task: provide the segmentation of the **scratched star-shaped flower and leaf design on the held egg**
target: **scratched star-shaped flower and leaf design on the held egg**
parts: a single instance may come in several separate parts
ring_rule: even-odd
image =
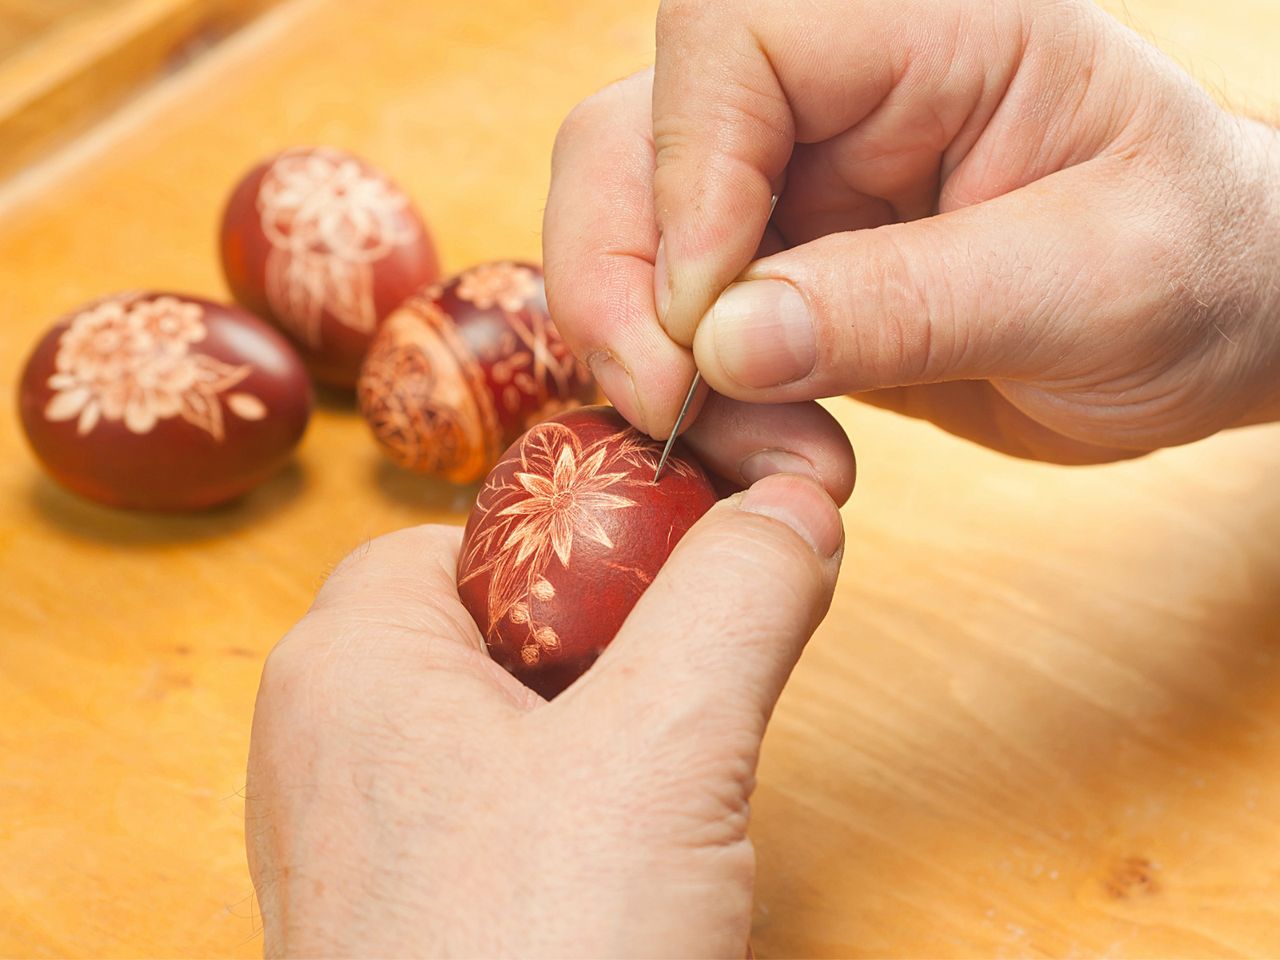
[[[529,664],[559,646],[556,630],[538,622],[532,605],[556,596],[548,571],[554,562],[568,568],[580,543],[613,549],[600,517],[636,506],[626,495],[628,488],[648,483],[657,456],[658,444],[630,429],[586,447],[572,430],[553,421],[525,434],[520,468],[492,476],[480,490],[475,509],[483,532],[460,563],[468,571],[462,584],[489,576],[486,634],[504,618],[524,626],[527,634],[520,655]],[[669,468],[694,472],[678,457],[669,461]],[[637,474],[644,479],[636,479]],[[486,517],[493,522],[485,522]]]

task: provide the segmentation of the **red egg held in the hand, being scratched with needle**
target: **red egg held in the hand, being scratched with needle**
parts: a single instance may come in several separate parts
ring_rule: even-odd
[[[458,556],[458,596],[489,654],[547,698],[595,662],[716,502],[703,468],[612,407],[538,424],[489,474]]]

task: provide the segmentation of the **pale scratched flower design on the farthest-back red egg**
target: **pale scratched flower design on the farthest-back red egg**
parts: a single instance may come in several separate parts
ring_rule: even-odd
[[[257,193],[266,260],[266,300],[276,317],[312,347],[328,311],[369,333],[378,324],[374,264],[417,239],[408,197],[335,150],[283,154]]]

